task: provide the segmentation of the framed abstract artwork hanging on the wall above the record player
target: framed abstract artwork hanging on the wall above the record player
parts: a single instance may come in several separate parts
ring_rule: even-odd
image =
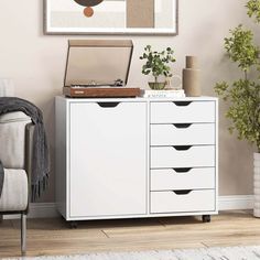
[[[177,0],[44,0],[46,34],[176,34]]]

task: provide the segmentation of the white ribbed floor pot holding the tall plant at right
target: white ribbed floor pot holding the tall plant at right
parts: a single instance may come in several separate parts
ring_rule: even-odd
[[[253,153],[253,216],[260,217],[260,153]]]

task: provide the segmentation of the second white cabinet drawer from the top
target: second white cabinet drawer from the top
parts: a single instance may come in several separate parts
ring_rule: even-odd
[[[215,144],[215,123],[151,124],[151,145]]]

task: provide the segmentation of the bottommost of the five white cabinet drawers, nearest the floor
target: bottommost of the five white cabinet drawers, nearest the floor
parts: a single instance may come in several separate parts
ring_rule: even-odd
[[[186,213],[215,210],[215,191],[152,192],[151,213]],[[181,192],[180,192],[181,193]]]

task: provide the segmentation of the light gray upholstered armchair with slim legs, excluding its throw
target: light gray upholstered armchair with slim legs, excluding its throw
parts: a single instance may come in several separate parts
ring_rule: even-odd
[[[0,218],[2,215],[21,215],[22,253],[26,250],[33,129],[31,118],[23,112],[0,116],[0,160],[4,167]]]

